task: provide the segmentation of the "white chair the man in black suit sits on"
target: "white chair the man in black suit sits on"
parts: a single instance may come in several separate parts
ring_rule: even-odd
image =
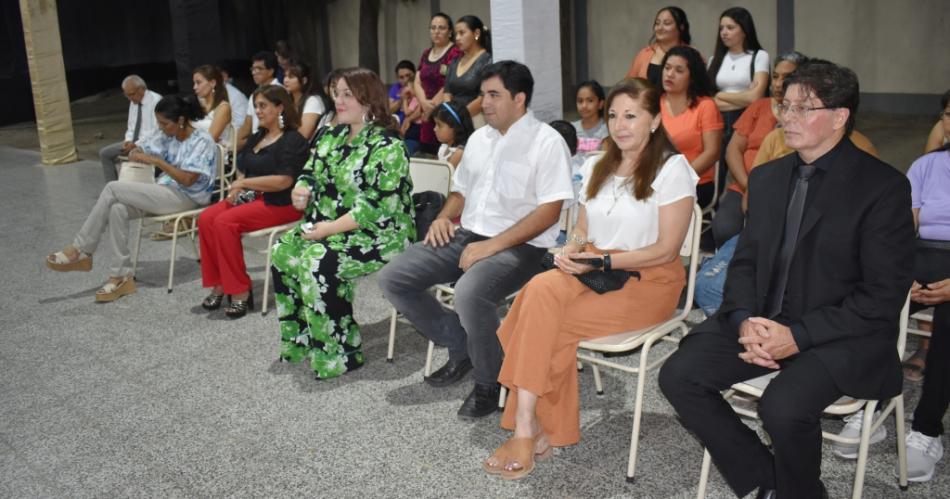
[[[904,354],[904,345],[907,341],[907,318],[909,310],[910,297],[908,296],[907,301],[904,303],[904,308],[901,310],[899,332],[897,335],[897,354],[900,356],[903,356]],[[759,376],[758,378],[743,381],[742,383],[736,383],[732,385],[732,387],[727,390],[725,394],[723,394],[723,397],[729,401],[730,404],[732,400],[740,394],[743,396],[761,398],[762,394],[765,392],[765,389],[769,386],[769,382],[778,376],[778,374],[779,371],[775,371],[764,376]],[[736,411],[737,414],[754,419],[758,419],[759,417],[757,411],[749,409],[745,405],[731,405],[732,410]],[[837,434],[826,431],[821,432],[821,436],[823,438],[833,442],[858,445],[858,464],[857,469],[855,469],[854,486],[851,491],[851,497],[853,499],[860,499],[861,493],[864,490],[864,473],[867,467],[868,448],[870,447],[871,435],[875,430],[878,429],[879,426],[881,426],[881,424],[884,423],[888,416],[891,415],[891,412],[894,413],[895,426],[897,427],[898,486],[901,490],[907,490],[907,446],[904,441],[904,394],[901,393],[896,397],[889,399],[887,404],[881,410],[880,415],[874,417],[874,411],[877,410],[877,405],[877,400],[861,400],[853,399],[851,397],[841,397],[838,399],[838,401],[825,408],[824,411],[825,414],[844,416],[864,410],[864,417],[861,421],[860,437],[848,438],[841,437]],[[702,470],[700,471],[699,476],[699,488],[696,492],[696,497],[698,499],[704,499],[706,497],[706,484],[709,482],[709,465],[711,462],[712,458],[709,455],[709,451],[704,450]]]

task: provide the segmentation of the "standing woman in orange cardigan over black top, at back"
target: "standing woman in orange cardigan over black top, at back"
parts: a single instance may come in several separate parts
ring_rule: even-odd
[[[653,21],[653,37],[637,53],[627,71],[627,78],[645,78],[660,88],[663,79],[663,58],[677,45],[689,45],[689,20],[679,7],[663,7]]]

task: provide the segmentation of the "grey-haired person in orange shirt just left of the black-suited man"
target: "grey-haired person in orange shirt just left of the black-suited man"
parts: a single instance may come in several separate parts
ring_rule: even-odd
[[[726,146],[726,164],[734,182],[719,200],[719,209],[713,218],[712,231],[716,248],[742,230],[745,221],[742,196],[745,195],[749,172],[752,171],[752,164],[762,140],[778,125],[782,83],[786,76],[807,60],[807,57],[798,52],[780,55],[772,70],[772,96],[763,97],[749,105],[733,127],[732,138]]]

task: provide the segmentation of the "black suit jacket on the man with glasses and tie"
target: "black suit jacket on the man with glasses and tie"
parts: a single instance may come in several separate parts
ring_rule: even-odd
[[[914,261],[910,183],[850,140],[839,148],[819,190],[809,193],[780,322],[804,328],[804,349],[814,351],[842,392],[883,399],[900,393],[902,383],[898,320]],[[693,333],[738,335],[730,312],[765,315],[798,164],[791,154],[752,171],[746,226],[722,306]]]

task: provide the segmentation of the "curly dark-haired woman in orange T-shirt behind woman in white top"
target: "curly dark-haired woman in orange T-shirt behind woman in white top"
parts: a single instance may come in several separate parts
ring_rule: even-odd
[[[663,128],[699,175],[697,202],[705,207],[714,192],[713,166],[722,148],[722,115],[712,100],[703,58],[692,47],[673,47],[663,58]]]

